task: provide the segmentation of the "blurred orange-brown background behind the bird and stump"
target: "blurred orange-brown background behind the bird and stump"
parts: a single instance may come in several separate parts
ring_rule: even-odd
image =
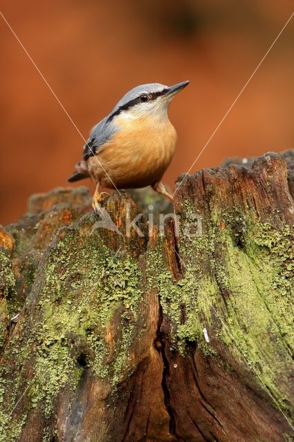
[[[170,106],[179,135],[170,186],[213,134],[293,12],[293,0],[2,1],[2,13],[86,138],[138,84],[190,85]],[[67,186],[84,144],[77,128],[0,17],[1,214],[28,195]],[[294,18],[192,172],[224,157],[294,144]],[[77,185],[88,185],[90,180]]]

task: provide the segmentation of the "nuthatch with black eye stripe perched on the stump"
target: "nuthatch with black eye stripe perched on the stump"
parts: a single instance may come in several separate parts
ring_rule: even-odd
[[[108,189],[152,186],[173,201],[161,182],[175,153],[177,132],[168,118],[173,97],[190,81],[173,86],[141,84],[129,90],[90,131],[82,159],[68,182],[90,177],[96,184],[92,208],[99,212]]]

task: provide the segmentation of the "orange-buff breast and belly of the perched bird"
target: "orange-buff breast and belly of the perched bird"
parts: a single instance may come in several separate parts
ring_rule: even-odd
[[[170,164],[177,141],[168,118],[132,120],[119,116],[116,124],[121,130],[99,150],[97,158],[89,158],[90,175],[106,187],[112,188],[114,182],[121,189],[144,187],[159,180]]]

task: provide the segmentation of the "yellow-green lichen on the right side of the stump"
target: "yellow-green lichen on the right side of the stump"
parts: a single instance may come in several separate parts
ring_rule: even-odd
[[[197,330],[206,318],[209,334],[226,343],[239,363],[253,369],[275,405],[288,411],[284,379],[293,345],[293,230],[282,221],[262,223],[255,213],[240,213],[237,206],[222,213],[210,209],[201,242],[181,237],[186,271],[191,273],[191,265],[197,269],[197,263],[204,269],[197,276],[198,293],[199,280],[208,282],[195,302],[199,314],[186,322],[194,320]],[[197,339],[196,332],[194,336]]]

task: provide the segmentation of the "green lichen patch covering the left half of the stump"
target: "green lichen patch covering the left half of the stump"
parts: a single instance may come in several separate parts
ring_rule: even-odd
[[[47,417],[62,387],[75,391],[85,368],[79,364],[81,354],[86,366],[113,386],[130,369],[128,349],[141,300],[141,270],[136,260],[108,249],[99,232],[90,234],[86,223],[87,217],[75,228],[59,232],[37,272],[30,295],[36,307],[30,314],[32,323],[23,330],[24,345],[15,336],[13,352],[11,345],[6,352],[6,358],[32,366],[30,407],[38,407]],[[106,335],[117,311],[121,315],[112,331],[116,345],[111,353]],[[5,387],[11,403],[3,402],[2,412],[9,416],[17,394],[12,386]],[[3,421],[8,423],[7,418]],[[10,424],[6,430],[5,440],[10,441]]]

